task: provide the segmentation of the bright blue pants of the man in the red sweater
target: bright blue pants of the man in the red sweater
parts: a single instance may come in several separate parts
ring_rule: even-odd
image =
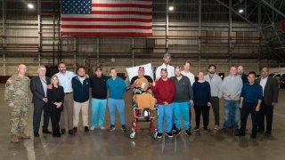
[[[166,119],[166,132],[171,132],[173,116],[173,103],[167,106],[159,105],[158,132],[163,133],[164,119]]]

